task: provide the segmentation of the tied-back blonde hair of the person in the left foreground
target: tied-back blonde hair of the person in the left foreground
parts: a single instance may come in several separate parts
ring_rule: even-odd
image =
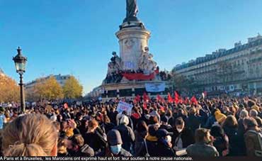
[[[57,146],[57,130],[46,116],[19,116],[2,133],[4,156],[50,156]]]

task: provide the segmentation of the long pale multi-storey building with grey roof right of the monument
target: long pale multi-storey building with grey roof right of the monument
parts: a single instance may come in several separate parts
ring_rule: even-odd
[[[176,65],[173,72],[192,79],[195,91],[210,94],[262,92],[262,36],[248,38],[248,43],[235,43],[234,48],[220,49],[205,57]]]

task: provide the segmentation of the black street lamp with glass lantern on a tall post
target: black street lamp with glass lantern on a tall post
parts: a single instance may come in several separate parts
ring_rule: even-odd
[[[20,96],[21,96],[21,107],[23,112],[25,112],[25,94],[23,91],[23,73],[25,72],[25,64],[28,60],[26,57],[23,57],[21,53],[21,48],[18,47],[17,49],[18,54],[16,57],[13,57],[13,62],[15,62],[16,65],[16,72],[20,75]]]

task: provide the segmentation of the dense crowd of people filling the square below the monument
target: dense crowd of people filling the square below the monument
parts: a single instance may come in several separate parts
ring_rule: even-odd
[[[0,108],[4,156],[262,156],[262,98]]]

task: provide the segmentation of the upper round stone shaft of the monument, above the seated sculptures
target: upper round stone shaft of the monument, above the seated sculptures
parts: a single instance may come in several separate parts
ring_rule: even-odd
[[[140,21],[126,22],[115,35],[119,39],[123,70],[138,70],[139,57],[148,46],[149,30]]]

